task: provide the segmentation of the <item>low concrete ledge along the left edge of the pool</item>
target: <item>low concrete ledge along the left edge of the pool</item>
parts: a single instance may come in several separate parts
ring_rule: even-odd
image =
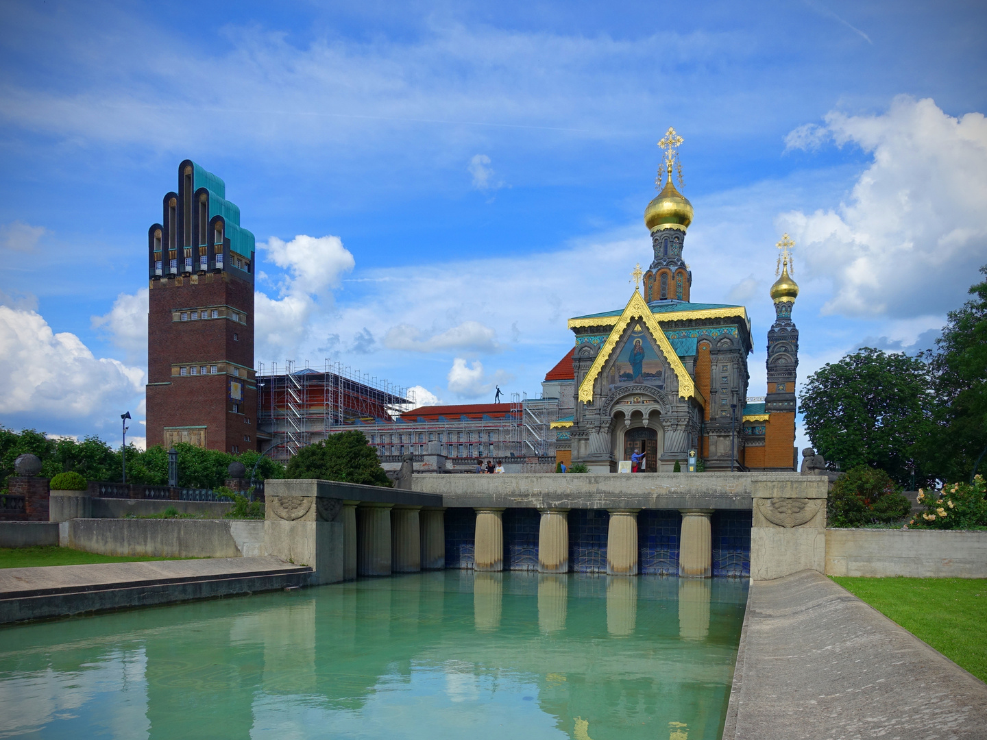
[[[0,624],[309,585],[277,557],[113,562],[0,570]]]

